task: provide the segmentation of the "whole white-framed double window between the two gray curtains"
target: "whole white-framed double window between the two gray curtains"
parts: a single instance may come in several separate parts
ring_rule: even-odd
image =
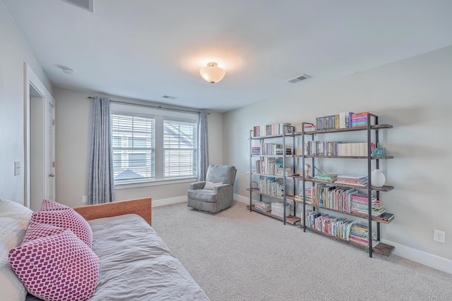
[[[114,104],[111,116],[116,184],[196,178],[197,115]]]

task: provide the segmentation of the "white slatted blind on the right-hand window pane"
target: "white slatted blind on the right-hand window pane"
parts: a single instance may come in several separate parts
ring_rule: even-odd
[[[196,123],[164,120],[163,128],[163,177],[196,177]]]

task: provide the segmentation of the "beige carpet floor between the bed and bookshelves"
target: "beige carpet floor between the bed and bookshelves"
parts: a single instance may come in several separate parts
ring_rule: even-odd
[[[452,275],[284,225],[236,202],[153,208],[153,228],[210,300],[452,300]]]

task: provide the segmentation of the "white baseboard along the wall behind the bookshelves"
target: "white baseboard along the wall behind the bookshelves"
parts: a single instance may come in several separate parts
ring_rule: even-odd
[[[242,195],[234,195],[234,199],[238,202],[249,204],[249,197],[242,197]],[[444,271],[448,274],[452,274],[452,260],[442,258],[434,254],[422,252],[411,247],[406,247],[405,245],[399,245],[396,242],[391,242],[388,240],[381,240],[381,242],[396,247],[396,249],[393,252],[394,255],[403,257],[408,260],[412,260],[413,262],[424,264],[424,266],[429,266],[439,271]]]

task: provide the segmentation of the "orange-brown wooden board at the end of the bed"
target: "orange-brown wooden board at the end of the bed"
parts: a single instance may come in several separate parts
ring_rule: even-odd
[[[73,209],[87,221],[122,214],[138,214],[150,225],[152,216],[152,199],[150,197],[144,199],[130,199],[128,201],[74,207]]]

